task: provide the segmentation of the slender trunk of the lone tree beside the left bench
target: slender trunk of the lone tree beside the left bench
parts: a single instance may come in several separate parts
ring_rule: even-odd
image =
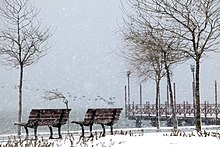
[[[23,87],[23,68],[24,66],[20,65],[20,77],[19,77],[19,102],[18,102],[18,122],[22,121],[22,87]],[[18,135],[21,135],[21,126],[18,125]]]

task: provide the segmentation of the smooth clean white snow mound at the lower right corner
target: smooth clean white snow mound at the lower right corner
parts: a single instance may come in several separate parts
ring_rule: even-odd
[[[163,136],[161,134],[147,134],[144,136],[106,136],[94,142],[98,147],[219,147],[220,140],[215,137],[181,137]]]

